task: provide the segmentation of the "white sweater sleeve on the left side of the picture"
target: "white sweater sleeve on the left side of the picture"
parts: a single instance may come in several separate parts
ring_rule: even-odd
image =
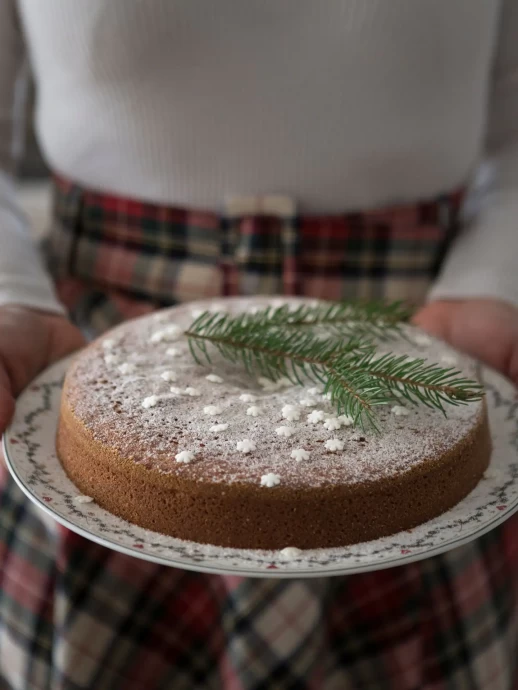
[[[16,203],[13,165],[15,88],[24,61],[15,0],[0,1],[0,305],[63,312]]]

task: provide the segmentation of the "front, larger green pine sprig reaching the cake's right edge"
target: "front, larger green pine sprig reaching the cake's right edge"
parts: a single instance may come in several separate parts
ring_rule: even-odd
[[[200,364],[210,362],[212,346],[251,375],[323,384],[337,412],[362,427],[369,422],[376,428],[374,408],[379,405],[406,400],[445,413],[445,404],[465,404],[483,395],[479,384],[452,369],[406,355],[377,358],[366,336],[322,339],[311,329],[285,328],[267,316],[205,312],[186,332],[193,357]]]

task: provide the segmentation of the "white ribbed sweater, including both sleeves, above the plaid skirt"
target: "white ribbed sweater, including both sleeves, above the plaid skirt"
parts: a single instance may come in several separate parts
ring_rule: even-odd
[[[433,296],[518,303],[516,0],[0,0],[0,163],[28,49],[53,167],[123,195],[302,212],[429,198],[490,157]],[[0,303],[56,309],[7,174]]]

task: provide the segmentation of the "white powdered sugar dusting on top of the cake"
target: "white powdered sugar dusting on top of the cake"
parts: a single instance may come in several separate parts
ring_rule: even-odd
[[[224,306],[244,311],[268,303],[271,300],[235,299]],[[195,306],[205,310],[211,305]],[[134,462],[160,472],[198,481],[251,484],[272,473],[282,477],[283,487],[363,483],[411,470],[451,448],[483,414],[482,403],[448,407],[447,418],[439,411],[408,405],[408,415],[398,416],[387,406],[377,412],[382,433],[362,431],[351,426],[345,415],[337,416],[314,383],[304,388],[287,381],[267,385],[212,351],[210,366],[196,364],[182,336],[192,322],[192,308],[165,310],[159,322],[153,315],[119,326],[109,335],[110,348],[102,340],[92,344],[69,375],[70,402],[94,436],[124,457],[132,456]],[[157,331],[164,334],[162,339],[150,342]],[[171,370],[172,338],[177,375],[173,387],[165,380],[169,376],[161,376]],[[383,349],[432,362],[455,357],[458,368],[474,377],[468,358],[430,340],[426,348],[401,340],[383,343]],[[105,362],[107,349],[119,362],[131,361],[136,373],[124,373]],[[222,382],[207,379],[211,374]],[[315,407],[301,404],[315,396]],[[143,407],[144,401],[148,402]],[[250,407],[260,414],[247,414]],[[211,412],[204,413],[205,408]],[[292,456],[296,450],[304,450],[308,459],[297,461]],[[182,451],[195,453],[196,462],[176,461]]]

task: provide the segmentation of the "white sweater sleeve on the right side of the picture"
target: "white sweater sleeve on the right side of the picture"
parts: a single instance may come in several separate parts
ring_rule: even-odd
[[[485,159],[466,224],[429,299],[495,297],[518,305],[518,2],[504,0],[487,115]]]

